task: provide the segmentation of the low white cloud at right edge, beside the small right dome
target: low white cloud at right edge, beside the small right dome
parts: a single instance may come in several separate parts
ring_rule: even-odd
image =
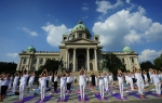
[[[154,59],[160,56],[160,54],[162,54],[162,50],[160,51],[150,50],[150,49],[144,50],[139,54],[139,62],[153,61]]]

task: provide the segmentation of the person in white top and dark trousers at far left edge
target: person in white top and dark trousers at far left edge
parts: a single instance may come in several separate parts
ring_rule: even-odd
[[[1,94],[0,94],[0,102],[3,102],[3,99],[5,96],[6,90],[9,88],[9,85],[11,82],[11,77],[9,74],[4,74],[1,78]]]

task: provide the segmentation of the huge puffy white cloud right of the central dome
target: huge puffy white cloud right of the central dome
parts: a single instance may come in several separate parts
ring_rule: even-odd
[[[96,22],[92,31],[99,34],[105,50],[162,40],[162,24],[148,18],[143,7],[137,7],[134,12],[123,9],[103,22]]]

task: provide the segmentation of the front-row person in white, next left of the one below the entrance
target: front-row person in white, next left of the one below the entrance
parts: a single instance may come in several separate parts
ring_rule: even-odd
[[[66,81],[67,81],[66,73],[62,72],[60,74],[60,102],[65,102]]]

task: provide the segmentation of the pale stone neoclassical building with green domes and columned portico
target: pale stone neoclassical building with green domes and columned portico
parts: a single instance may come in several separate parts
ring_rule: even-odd
[[[64,34],[62,42],[58,46],[59,52],[36,51],[31,46],[19,53],[17,70],[28,66],[29,70],[38,70],[44,65],[48,59],[59,60],[63,57],[65,68],[78,72],[83,66],[87,72],[98,70],[102,67],[103,59],[106,54],[116,54],[124,64],[126,69],[133,70],[133,67],[139,67],[138,54],[130,47],[124,47],[121,52],[102,51],[99,35],[91,35],[89,29],[79,22],[71,33]]]

